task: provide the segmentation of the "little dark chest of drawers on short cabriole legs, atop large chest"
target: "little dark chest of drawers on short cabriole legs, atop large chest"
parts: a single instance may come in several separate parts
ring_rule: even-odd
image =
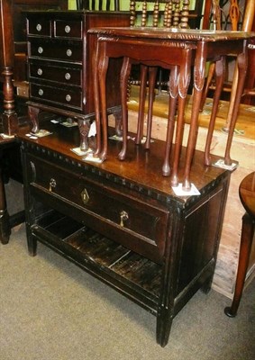
[[[32,132],[39,131],[40,110],[79,122],[81,148],[87,146],[87,126],[95,117],[92,73],[94,38],[90,28],[129,26],[125,12],[49,11],[27,14],[29,114]],[[113,59],[107,74],[107,109],[117,121],[120,94],[112,80],[122,65]]]

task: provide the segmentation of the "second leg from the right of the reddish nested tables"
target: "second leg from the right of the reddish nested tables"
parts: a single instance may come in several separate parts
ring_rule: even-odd
[[[215,77],[216,77],[216,83],[215,83],[215,91],[214,91],[214,101],[213,101],[213,109],[211,113],[211,119],[209,122],[207,137],[206,137],[206,143],[205,143],[205,165],[210,166],[211,165],[211,159],[210,159],[210,149],[214,134],[214,125],[215,125],[215,119],[216,114],[218,112],[218,105],[220,102],[220,96],[223,89],[223,80],[224,80],[224,74],[225,74],[225,58],[221,57],[218,61],[214,64],[215,69]]]

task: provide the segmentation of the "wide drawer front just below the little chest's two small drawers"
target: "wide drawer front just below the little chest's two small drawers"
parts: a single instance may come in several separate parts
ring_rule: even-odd
[[[30,40],[29,56],[82,63],[81,41]]]

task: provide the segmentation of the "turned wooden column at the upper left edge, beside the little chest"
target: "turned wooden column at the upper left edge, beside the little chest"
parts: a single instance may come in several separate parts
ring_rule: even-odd
[[[1,76],[4,80],[4,112],[3,132],[14,135],[18,128],[18,117],[14,106],[14,26],[13,26],[13,1],[0,0],[0,64]]]

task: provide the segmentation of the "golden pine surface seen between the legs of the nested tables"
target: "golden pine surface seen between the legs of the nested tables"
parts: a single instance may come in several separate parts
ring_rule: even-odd
[[[138,111],[139,103],[139,86],[132,86],[130,101],[128,103],[129,110]],[[212,99],[207,99],[205,102],[204,111],[199,115],[199,126],[208,127],[210,114],[212,109]],[[228,102],[221,101],[216,118],[215,130],[223,130],[227,119]],[[146,108],[147,109],[147,108]],[[192,109],[192,96],[187,98],[187,109],[185,112],[185,121],[188,123]],[[162,92],[156,94],[153,106],[153,115],[167,118],[168,117],[168,93]],[[255,139],[255,106],[241,104],[238,120],[236,123],[235,135],[248,139]]]

